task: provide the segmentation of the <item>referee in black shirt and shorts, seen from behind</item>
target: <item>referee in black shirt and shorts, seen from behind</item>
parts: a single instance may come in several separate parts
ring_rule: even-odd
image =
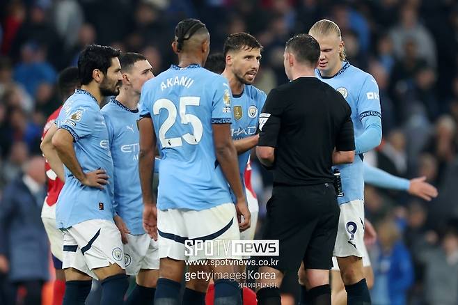
[[[352,110],[315,77],[319,54],[317,40],[307,34],[286,42],[283,63],[291,82],[269,93],[260,114],[256,153],[274,172],[263,239],[280,243],[278,263],[259,269],[260,305],[281,304],[283,275],[297,272],[301,262],[308,304],[331,304],[329,269],[340,213],[331,166],[352,163],[355,146]]]

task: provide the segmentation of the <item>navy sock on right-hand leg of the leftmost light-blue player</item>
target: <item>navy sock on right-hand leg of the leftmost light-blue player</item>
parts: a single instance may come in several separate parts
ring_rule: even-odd
[[[129,288],[129,282],[127,281],[127,275],[116,274],[107,277],[102,283],[102,299],[100,299],[100,305],[123,305],[124,296],[127,288]]]

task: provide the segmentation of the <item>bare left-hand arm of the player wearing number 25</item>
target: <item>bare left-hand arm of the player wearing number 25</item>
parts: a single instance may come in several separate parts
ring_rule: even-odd
[[[140,152],[139,175],[141,195],[143,197],[143,228],[154,240],[157,240],[156,198],[152,192],[152,172],[155,167],[156,134],[152,119],[139,120]]]

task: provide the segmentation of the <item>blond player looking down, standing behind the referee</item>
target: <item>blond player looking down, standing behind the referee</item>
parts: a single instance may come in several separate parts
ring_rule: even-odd
[[[370,304],[361,259],[364,256],[363,153],[376,148],[381,141],[379,88],[372,75],[345,60],[344,43],[337,24],[322,19],[308,33],[319,42],[321,49],[317,77],[340,92],[352,108],[357,155],[352,164],[336,166],[340,170],[344,194],[338,197],[340,217],[334,256],[347,290],[348,304]],[[299,280],[302,280],[301,299],[305,303],[305,281]]]

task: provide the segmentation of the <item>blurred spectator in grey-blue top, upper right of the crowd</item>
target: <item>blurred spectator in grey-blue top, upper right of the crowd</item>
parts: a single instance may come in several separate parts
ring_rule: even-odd
[[[418,56],[429,65],[436,67],[436,45],[431,33],[418,21],[416,8],[409,3],[404,4],[400,10],[399,22],[390,31],[393,47],[397,58],[403,60],[408,56],[404,52],[404,42],[413,40],[418,46]]]

